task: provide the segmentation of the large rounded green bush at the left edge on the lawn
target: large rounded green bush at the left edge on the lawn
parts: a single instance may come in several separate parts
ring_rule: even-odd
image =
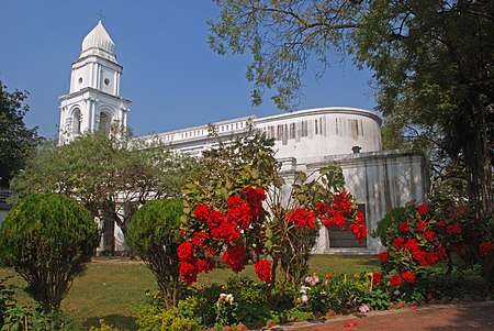
[[[35,194],[2,222],[0,262],[27,283],[25,291],[45,312],[59,310],[99,241],[100,231],[82,205],[56,194]]]

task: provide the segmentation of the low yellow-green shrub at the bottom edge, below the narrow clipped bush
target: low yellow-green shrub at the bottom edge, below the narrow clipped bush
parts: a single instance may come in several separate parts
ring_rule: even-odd
[[[200,330],[199,323],[180,315],[177,308],[161,310],[149,307],[141,311],[136,321],[139,331],[194,331]]]

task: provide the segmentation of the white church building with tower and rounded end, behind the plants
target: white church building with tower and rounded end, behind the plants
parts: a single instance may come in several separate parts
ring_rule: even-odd
[[[69,95],[60,97],[61,143],[82,132],[115,124],[126,126],[130,101],[120,97],[122,66],[116,63],[114,43],[101,22],[86,36],[78,60],[72,64]],[[420,155],[382,151],[381,119],[363,109],[328,107],[300,110],[266,118],[239,118],[188,129],[142,136],[169,144],[192,155],[214,147],[211,125],[222,140],[245,134],[250,126],[274,139],[276,157],[290,184],[295,172],[307,174],[337,162],[366,216],[369,233],[393,208],[427,194],[427,174]],[[61,130],[63,129],[63,130]],[[121,230],[113,232],[114,250],[126,250]],[[382,250],[370,234],[359,243],[348,231],[322,229],[314,253],[372,254]]]

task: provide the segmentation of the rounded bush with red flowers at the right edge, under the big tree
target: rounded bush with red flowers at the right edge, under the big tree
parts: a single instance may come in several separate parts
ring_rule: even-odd
[[[389,212],[373,235],[386,247],[379,258],[394,288],[412,284],[427,293],[440,285],[433,284],[433,278],[446,282],[433,274],[448,277],[476,264],[485,266],[487,282],[492,277],[492,229],[464,203],[440,196],[428,203],[408,203]]]

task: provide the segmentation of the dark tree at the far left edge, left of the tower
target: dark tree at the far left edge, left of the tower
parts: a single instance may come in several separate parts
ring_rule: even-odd
[[[40,144],[37,126],[27,129],[24,103],[27,92],[10,93],[0,80],[0,187],[9,187],[10,179],[25,166],[26,158]]]

